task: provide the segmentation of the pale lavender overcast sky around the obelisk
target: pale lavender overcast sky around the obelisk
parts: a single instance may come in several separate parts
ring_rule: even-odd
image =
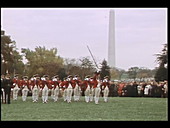
[[[116,67],[158,67],[167,43],[167,8],[1,8],[1,29],[16,47],[57,48],[63,58],[108,60],[109,11],[115,10]],[[92,59],[91,59],[92,60]]]

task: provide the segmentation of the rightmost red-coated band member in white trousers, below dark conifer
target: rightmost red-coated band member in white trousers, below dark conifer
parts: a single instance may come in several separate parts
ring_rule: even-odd
[[[110,87],[109,77],[105,76],[103,83],[102,83],[102,91],[103,91],[104,102],[108,101],[109,87]]]

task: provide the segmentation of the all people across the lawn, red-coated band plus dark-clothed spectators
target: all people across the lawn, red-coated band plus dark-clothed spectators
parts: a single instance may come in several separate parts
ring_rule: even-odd
[[[84,96],[85,102],[99,103],[99,97],[103,97],[104,102],[108,102],[108,97],[168,97],[168,82],[114,82],[108,76],[100,80],[100,72],[86,76],[83,80],[78,75],[69,75],[60,80],[58,75],[51,79],[48,75],[42,77],[38,74],[30,79],[18,75],[13,78],[9,74],[1,75],[1,99],[2,103],[10,104],[10,98],[18,100],[22,96],[22,101],[26,101],[31,94],[32,101],[47,103],[50,99],[57,102],[60,97],[67,103],[80,101]],[[40,99],[41,98],[41,99]]]

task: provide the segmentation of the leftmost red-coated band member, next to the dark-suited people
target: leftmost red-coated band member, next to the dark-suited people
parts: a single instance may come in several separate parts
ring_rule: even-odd
[[[18,92],[20,90],[20,80],[18,79],[18,75],[15,75],[13,78],[13,100],[17,100]]]

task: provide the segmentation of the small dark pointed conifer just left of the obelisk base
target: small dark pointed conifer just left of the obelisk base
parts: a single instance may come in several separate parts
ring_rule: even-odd
[[[107,61],[105,59],[102,61],[101,66],[101,79],[103,80],[105,76],[110,77],[110,67],[107,65]]]

